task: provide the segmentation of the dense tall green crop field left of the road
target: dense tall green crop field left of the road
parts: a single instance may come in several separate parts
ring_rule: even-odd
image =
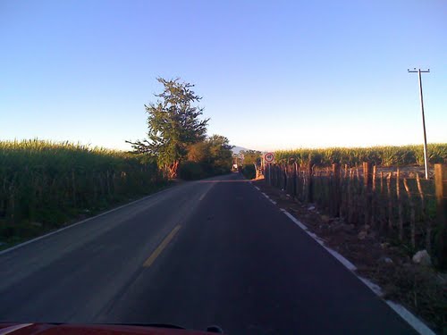
[[[167,184],[147,155],[38,139],[0,141],[0,182],[5,246]]]

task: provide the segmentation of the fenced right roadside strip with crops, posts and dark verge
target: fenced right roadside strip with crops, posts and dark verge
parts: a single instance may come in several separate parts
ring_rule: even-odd
[[[257,186],[385,299],[445,334],[447,144],[428,145],[428,156],[426,180],[422,146],[277,151]]]

